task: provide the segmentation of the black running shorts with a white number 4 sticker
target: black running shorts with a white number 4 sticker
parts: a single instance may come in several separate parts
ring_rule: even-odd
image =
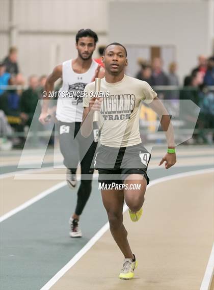
[[[147,184],[147,167],[151,154],[142,143],[128,147],[109,147],[101,145],[94,160],[94,167],[99,172],[98,181],[101,183],[123,183],[130,174],[143,175]]]

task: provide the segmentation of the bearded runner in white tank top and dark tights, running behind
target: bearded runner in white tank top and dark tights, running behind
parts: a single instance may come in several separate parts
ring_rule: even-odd
[[[98,37],[92,30],[79,30],[76,34],[77,58],[55,67],[45,84],[45,91],[49,96],[53,91],[54,83],[59,78],[63,81],[57,101],[56,118],[59,127],[60,150],[67,168],[66,180],[71,189],[76,186],[76,169],[78,164],[81,164],[82,178],[77,191],[77,204],[74,214],[69,219],[69,234],[72,238],[82,236],[79,229],[79,217],[92,190],[93,157],[97,142],[94,142],[93,131],[88,138],[84,138],[79,129],[83,118],[81,93],[84,92],[88,83],[95,80],[95,77],[104,75],[103,68],[92,60],[97,41]],[[47,116],[48,100],[44,99],[39,121],[45,124],[48,121]]]

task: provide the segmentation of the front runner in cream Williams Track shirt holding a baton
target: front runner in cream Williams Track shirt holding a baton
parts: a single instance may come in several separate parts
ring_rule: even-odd
[[[95,168],[102,183],[102,201],[108,213],[111,233],[125,257],[120,279],[132,279],[137,267],[123,225],[123,203],[125,200],[129,207],[131,220],[138,221],[149,183],[147,166],[150,153],[144,148],[139,133],[141,101],[149,104],[159,115],[166,131],[168,152],[159,165],[166,161],[165,168],[168,169],[176,163],[173,128],[168,112],[148,83],[124,74],[126,57],[123,45],[112,43],[106,46],[103,55],[105,78],[101,79],[100,90],[109,91],[110,96],[103,99],[84,98],[84,121],[81,126],[82,135],[88,136],[93,128],[94,112],[100,111],[101,146],[96,154]],[[85,87],[88,95],[91,91],[94,91],[94,83]]]

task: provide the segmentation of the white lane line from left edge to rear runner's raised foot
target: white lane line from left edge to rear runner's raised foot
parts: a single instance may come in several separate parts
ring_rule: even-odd
[[[38,200],[42,199],[43,197],[47,196],[48,194],[50,194],[50,193],[52,193],[52,192],[64,187],[66,184],[67,184],[66,181],[60,182],[60,183],[56,184],[55,186],[49,188],[48,190],[45,190],[45,191],[41,192],[37,196],[29,199],[28,201],[22,203],[21,205],[15,207],[14,209],[10,210],[10,212],[8,212],[7,214],[5,214],[2,217],[0,217],[0,223],[5,221],[5,220],[7,220],[10,217],[12,217],[13,215],[17,214],[22,209],[32,205],[33,203],[35,203]]]

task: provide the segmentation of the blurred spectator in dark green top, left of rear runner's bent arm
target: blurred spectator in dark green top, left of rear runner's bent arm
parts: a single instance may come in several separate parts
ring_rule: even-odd
[[[38,89],[38,78],[36,75],[31,75],[29,77],[29,88],[22,93],[20,99],[20,107],[21,107],[20,116],[23,123],[28,126],[31,125],[39,100],[39,94],[37,89]]]

